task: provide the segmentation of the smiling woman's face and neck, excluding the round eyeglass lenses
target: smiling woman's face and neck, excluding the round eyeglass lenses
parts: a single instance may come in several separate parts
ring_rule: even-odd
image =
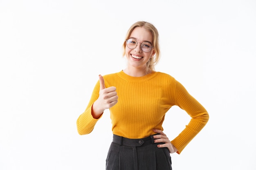
[[[129,49],[126,46],[125,54],[128,60],[129,68],[140,68],[146,69],[146,63],[150,59],[151,56],[155,54],[154,48],[152,48],[149,52],[144,52],[141,49],[141,43],[150,42],[153,46],[153,35],[150,31],[147,31],[143,27],[136,27],[129,38],[137,40],[138,44],[135,49]],[[128,39],[129,39],[128,38]]]

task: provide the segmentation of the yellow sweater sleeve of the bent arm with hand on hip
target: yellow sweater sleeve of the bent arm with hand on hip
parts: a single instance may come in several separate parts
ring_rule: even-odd
[[[177,82],[176,105],[186,111],[191,120],[186,128],[171,143],[180,154],[187,144],[202,130],[209,120],[207,110]]]

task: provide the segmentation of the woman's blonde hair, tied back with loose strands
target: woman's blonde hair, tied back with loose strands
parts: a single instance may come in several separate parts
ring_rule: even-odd
[[[130,26],[130,29],[128,30],[128,32],[126,34],[125,40],[128,40],[130,38],[132,31],[136,27],[143,27],[147,31],[150,31],[153,35],[153,46],[155,49],[155,55],[148,60],[146,71],[147,72],[155,71],[155,65],[159,62],[159,59],[160,59],[158,31],[153,24],[150,24],[149,22],[146,22],[146,21],[138,21],[138,22],[135,22],[134,24],[132,24],[132,26]],[[123,56],[125,55],[125,48],[126,48],[126,41],[124,41],[124,44],[123,44]]]

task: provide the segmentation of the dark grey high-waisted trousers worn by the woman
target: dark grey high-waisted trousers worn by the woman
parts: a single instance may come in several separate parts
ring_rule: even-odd
[[[128,139],[113,135],[106,170],[172,170],[168,148],[157,148],[151,136]]]

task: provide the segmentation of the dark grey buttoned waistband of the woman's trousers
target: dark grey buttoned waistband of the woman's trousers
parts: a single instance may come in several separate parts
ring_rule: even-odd
[[[159,135],[159,133],[155,134]],[[150,135],[149,137],[141,138],[141,139],[129,139],[126,137],[121,137],[117,135],[113,135],[113,142],[116,144],[119,144],[120,146],[142,146],[142,145],[149,145],[149,144],[155,144],[154,142],[154,135]]]

